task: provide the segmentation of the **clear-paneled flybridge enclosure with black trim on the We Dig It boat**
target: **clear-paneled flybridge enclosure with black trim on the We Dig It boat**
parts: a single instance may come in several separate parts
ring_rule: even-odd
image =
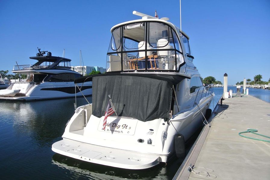
[[[161,22],[126,24],[112,31],[107,72],[179,72],[184,63],[179,37]]]

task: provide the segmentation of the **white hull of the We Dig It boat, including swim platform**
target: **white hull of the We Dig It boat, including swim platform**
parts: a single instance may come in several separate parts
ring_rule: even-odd
[[[210,101],[210,97],[200,101],[199,107],[204,115]],[[187,141],[202,127],[201,111],[197,106],[191,107],[190,110],[173,116],[170,123],[164,122],[164,119],[142,122],[109,116],[107,122],[111,125],[106,126],[103,131],[101,129],[104,116],[97,118],[91,115],[91,106],[85,105],[77,108],[65,129],[63,140],[54,143],[52,150],[96,164],[125,169],[147,169],[160,162],[168,162],[170,156],[174,155],[176,134],[183,134]],[[130,123],[131,121],[133,123]],[[149,127],[154,131],[149,131]],[[126,128],[129,130],[125,130]],[[140,143],[139,139],[144,142]],[[151,140],[151,144],[148,144],[148,140]]]

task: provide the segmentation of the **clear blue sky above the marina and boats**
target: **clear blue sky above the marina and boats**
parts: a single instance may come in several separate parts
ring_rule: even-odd
[[[203,78],[228,84],[257,74],[270,78],[269,0],[182,0],[182,30],[190,37],[194,64]],[[139,16],[161,17],[180,27],[179,1],[0,1],[0,70],[33,64],[36,47],[87,66],[106,66],[112,26]]]

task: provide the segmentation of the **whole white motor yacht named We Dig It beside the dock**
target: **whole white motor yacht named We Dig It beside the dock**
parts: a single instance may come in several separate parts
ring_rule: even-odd
[[[75,110],[54,152],[146,169],[183,158],[185,142],[207,124],[214,94],[193,64],[189,37],[168,18],[133,14],[143,18],[111,28],[106,73],[74,81],[92,81],[92,104]]]

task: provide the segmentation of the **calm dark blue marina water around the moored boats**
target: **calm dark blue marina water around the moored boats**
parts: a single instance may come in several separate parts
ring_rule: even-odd
[[[235,88],[236,91],[236,87]],[[228,88],[229,90],[230,88]],[[232,89],[234,90],[234,89]],[[250,94],[270,91],[250,88]],[[223,88],[214,88],[218,102]],[[263,92],[263,93],[260,93]],[[255,95],[254,95],[255,96]],[[88,97],[91,102],[92,97]],[[123,170],[91,164],[55,154],[54,142],[61,140],[68,119],[74,114],[74,98],[33,102],[0,101],[1,179],[172,179],[182,159],[150,170]],[[78,106],[86,104],[79,98]],[[187,151],[196,136],[190,141]]]

